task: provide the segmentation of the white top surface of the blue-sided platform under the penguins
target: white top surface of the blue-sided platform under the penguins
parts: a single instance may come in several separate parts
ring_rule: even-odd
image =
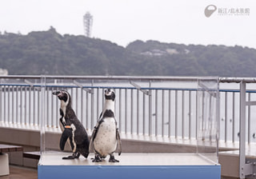
[[[92,162],[94,154],[75,160],[62,160],[70,153],[42,153],[39,165],[215,165],[213,161],[195,153],[122,153],[115,154],[117,163],[109,162],[109,157],[102,162]]]

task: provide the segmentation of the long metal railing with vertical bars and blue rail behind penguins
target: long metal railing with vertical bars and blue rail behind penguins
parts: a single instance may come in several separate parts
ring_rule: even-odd
[[[42,106],[38,101],[41,78],[0,77],[0,121],[40,124]],[[47,80],[46,125],[49,127],[58,128],[59,101],[51,94],[53,90],[68,90],[73,97],[73,107],[78,118],[87,129],[93,129],[102,111],[103,90],[111,87],[117,93],[116,115],[123,133],[189,139],[197,137],[197,78],[49,76]],[[220,82],[235,84],[238,81],[220,78]],[[220,139],[234,142],[239,140],[240,90],[239,86],[232,86],[231,89],[225,87],[221,86],[220,89]],[[246,96],[254,99],[256,91],[247,90]],[[255,111],[253,108],[249,106],[247,109],[246,141],[249,143],[254,142],[256,137],[255,122],[251,120]]]

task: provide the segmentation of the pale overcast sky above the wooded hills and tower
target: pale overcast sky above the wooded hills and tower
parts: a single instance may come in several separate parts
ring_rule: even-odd
[[[209,5],[216,11],[206,18]],[[53,26],[60,34],[84,34],[87,11],[94,17],[92,37],[120,46],[139,39],[256,48],[255,0],[1,0],[0,31]]]

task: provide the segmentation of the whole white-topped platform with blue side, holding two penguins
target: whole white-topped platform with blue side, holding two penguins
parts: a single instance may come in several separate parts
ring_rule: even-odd
[[[220,179],[221,166],[194,153],[122,153],[120,162],[108,158],[94,163],[90,158],[62,160],[70,153],[44,153],[38,163],[38,179]]]

